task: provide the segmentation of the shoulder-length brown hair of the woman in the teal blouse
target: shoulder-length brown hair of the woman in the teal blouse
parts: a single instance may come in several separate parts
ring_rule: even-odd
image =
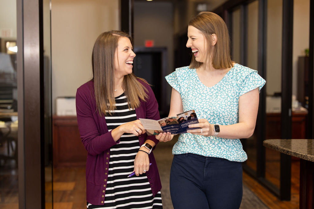
[[[233,66],[230,58],[230,39],[228,29],[224,20],[219,17],[219,15],[212,12],[201,12],[190,20],[189,25],[200,30],[207,40],[208,57],[205,62],[209,58],[209,50],[211,47],[210,37],[212,34],[216,34],[217,43],[215,44],[213,50],[213,67],[215,69],[222,69]],[[192,56],[190,68],[198,68],[202,64],[203,63],[196,61],[195,57]]]

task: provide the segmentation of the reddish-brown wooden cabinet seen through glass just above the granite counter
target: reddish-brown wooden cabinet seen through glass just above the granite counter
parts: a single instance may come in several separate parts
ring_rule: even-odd
[[[292,138],[306,138],[307,112],[292,112]],[[266,139],[280,138],[280,113],[266,114]]]

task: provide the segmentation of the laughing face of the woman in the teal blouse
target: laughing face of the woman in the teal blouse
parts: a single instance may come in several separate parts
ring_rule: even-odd
[[[195,60],[205,62],[207,55],[207,40],[200,30],[189,25],[187,29],[187,47],[192,49]]]

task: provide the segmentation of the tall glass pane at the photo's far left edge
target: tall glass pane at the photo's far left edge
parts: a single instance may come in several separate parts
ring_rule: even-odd
[[[19,208],[16,1],[0,1],[0,208]]]

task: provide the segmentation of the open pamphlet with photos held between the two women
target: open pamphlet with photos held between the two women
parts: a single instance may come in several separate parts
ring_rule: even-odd
[[[190,124],[198,123],[195,110],[189,110],[177,114],[176,117],[162,118],[158,121],[139,118],[148,135],[170,132],[171,134],[187,133]]]

